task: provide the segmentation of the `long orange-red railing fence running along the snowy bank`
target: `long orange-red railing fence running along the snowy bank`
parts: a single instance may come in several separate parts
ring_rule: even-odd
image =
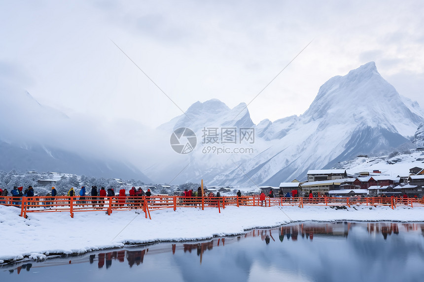
[[[0,196],[0,204],[5,206],[15,206],[21,208],[21,216],[26,217],[27,213],[32,212],[69,212],[73,218],[76,212],[105,211],[110,215],[113,211],[142,209],[145,217],[150,217],[150,210],[177,207],[201,208],[214,207],[225,209],[226,206],[348,206],[367,205],[367,206],[389,206],[394,209],[397,205],[409,207],[424,206],[424,197],[402,198],[402,197],[266,197],[261,201],[259,196],[223,196],[223,197],[183,197],[183,196],[165,196],[153,195],[150,197],[91,197],[84,198],[73,196],[35,196],[35,197],[7,197]]]

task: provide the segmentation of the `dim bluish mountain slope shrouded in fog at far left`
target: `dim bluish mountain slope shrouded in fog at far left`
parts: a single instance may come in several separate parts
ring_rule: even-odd
[[[108,132],[112,136],[106,135],[99,121],[71,119],[41,105],[10,78],[0,79],[0,101],[0,170],[150,181],[113,149],[114,132]]]

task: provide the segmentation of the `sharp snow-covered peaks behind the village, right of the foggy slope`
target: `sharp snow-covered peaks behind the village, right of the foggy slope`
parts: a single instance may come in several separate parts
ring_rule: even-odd
[[[210,185],[278,186],[283,181],[305,178],[309,169],[331,168],[357,155],[389,152],[410,143],[423,122],[418,103],[399,95],[370,62],[345,76],[329,79],[301,116],[254,125],[246,104],[230,109],[213,99],[196,102],[185,115],[159,129],[172,132],[188,127],[200,139],[205,128],[252,127],[255,142],[249,145],[253,154],[202,154],[208,146],[204,144],[185,160],[178,160],[187,165],[179,177],[196,182],[203,178]],[[156,174],[146,172],[153,178],[160,172],[177,175],[173,167],[178,171],[182,168],[174,162],[155,166]]]

